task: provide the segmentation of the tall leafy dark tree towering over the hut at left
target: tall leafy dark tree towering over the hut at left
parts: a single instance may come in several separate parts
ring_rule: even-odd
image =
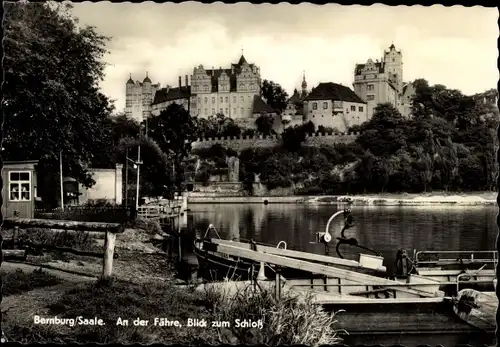
[[[5,3],[4,159],[39,160],[39,177],[47,180],[39,194],[47,200],[59,187],[60,151],[65,175],[94,184],[86,167],[106,148],[113,110],[98,87],[108,39],[77,27],[70,9],[67,3]]]

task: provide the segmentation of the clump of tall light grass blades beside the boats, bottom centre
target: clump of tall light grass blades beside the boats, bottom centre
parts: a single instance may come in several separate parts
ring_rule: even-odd
[[[218,328],[221,343],[319,346],[341,342],[334,328],[336,314],[325,312],[311,296],[300,299],[286,293],[277,300],[273,288],[253,290],[249,285],[235,296],[206,289],[204,297],[218,320],[263,320],[262,330]]]

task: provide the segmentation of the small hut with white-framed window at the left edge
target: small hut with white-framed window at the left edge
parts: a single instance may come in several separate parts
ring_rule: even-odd
[[[5,161],[2,168],[2,215],[33,218],[37,197],[38,160]]]

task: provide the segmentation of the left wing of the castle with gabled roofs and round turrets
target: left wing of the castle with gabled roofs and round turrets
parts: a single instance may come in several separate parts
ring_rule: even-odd
[[[172,103],[183,105],[192,116],[208,118],[218,113],[238,123],[253,122],[262,113],[274,113],[261,98],[260,68],[241,55],[229,68],[205,69],[199,65],[182,86],[160,88],[146,76],[143,83],[127,82],[126,115],[138,121],[158,115]]]

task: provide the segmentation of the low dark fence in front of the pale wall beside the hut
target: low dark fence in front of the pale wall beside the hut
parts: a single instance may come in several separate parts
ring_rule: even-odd
[[[79,222],[126,223],[135,218],[132,207],[121,206],[68,206],[35,209],[36,219],[72,220]]]

